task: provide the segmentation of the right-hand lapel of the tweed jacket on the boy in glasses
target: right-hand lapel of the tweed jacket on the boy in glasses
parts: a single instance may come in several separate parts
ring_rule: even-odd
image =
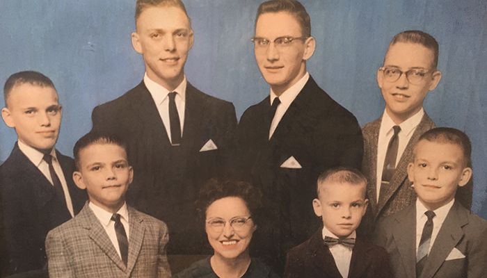
[[[428,131],[433,127],[433,122],[431,119],[424,113],[420,124],[418,124],[417,128],[415,129],[413,136],[411,136],[408,145],[406,145],[406,149],[397,163],[396,170],[392,175],[392,179],[390,180],[389,186],[385,188],[384,198],[381,198],[381,201],[377,204],[377,214],[381,213],[382,209],[384,208],[385,204],[389,202],[389,199],[394,195],[394,193],[401,187],[404,181],[408,177],[408,164],[413,160],[413,148],[417,142],[417,140],[422,136],[423,133]],[[376,156],[377,157],[377,156]]]

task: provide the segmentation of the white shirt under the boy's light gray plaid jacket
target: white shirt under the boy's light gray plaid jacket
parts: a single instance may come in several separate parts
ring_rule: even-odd
[[[95,216],[98,218],[99,222],[102,224],[103,229],[105,229],[106,234],[109,236],[111,243],[113,244],[113,247],[115,247],[115,250],[118,253],[118,256],[120,256],[120,259],[122,256],[120,255],[120,247],[118,247],[118,240],[117,240],[117,233],[115,232],[115,221],[111,220],[111,216],[113,213],[109,211],[105,211],[103,208],[100,208],[99,206],[93,204],[93,202],[90,202],[88,204],[90,206],[91,211],[95,213]],[[123,227],[125,228],[125,234],[127,235],[127,241],[129,240],[129,211],[127,211],[127,204],[124,203],[123,206],[117,211],[118,214],[120,214],[120,222],[122,222]]]

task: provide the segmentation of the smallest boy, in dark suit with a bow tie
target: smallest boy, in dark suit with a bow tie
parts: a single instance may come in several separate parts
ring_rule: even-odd
[[[391,277],[383,248],[356,240],[367,209],[367,180],[353,168],[330,169],[318,178],[314,213],[323,229],[287,254],[285,277]]]

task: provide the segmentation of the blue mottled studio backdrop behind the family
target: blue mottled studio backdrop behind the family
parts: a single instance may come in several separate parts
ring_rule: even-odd
[[[255,65],[253,22],[257,0],[186,0],[195,44],[189,81],[232,101],[241,115],[268,93]],[[375,74],[392,36],[406,29],[440,43],[443,78],[424,106],[438,126],[466,131],[473,144],[473,211],[487,218],[487,1],[303,0],[317,51],[308,70],[361,125],[383,111]],[[21,70],[38,70],[56,85],[63,104],[57,147],[72,155],[91,127],[93,107],[122,95],[144,72],[131,47],[135,0],[0,1],[0,83]],[[1,101],[3,104],[3,100]],[[0,161],[15,132],[0,124]]]

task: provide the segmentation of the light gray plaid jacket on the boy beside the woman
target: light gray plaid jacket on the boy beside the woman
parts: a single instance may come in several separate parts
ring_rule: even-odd
[[[127,209],[127,267],[86,202],[76,217],[47,234],[49,277],[170,277],[166,224],[130,206]]]

